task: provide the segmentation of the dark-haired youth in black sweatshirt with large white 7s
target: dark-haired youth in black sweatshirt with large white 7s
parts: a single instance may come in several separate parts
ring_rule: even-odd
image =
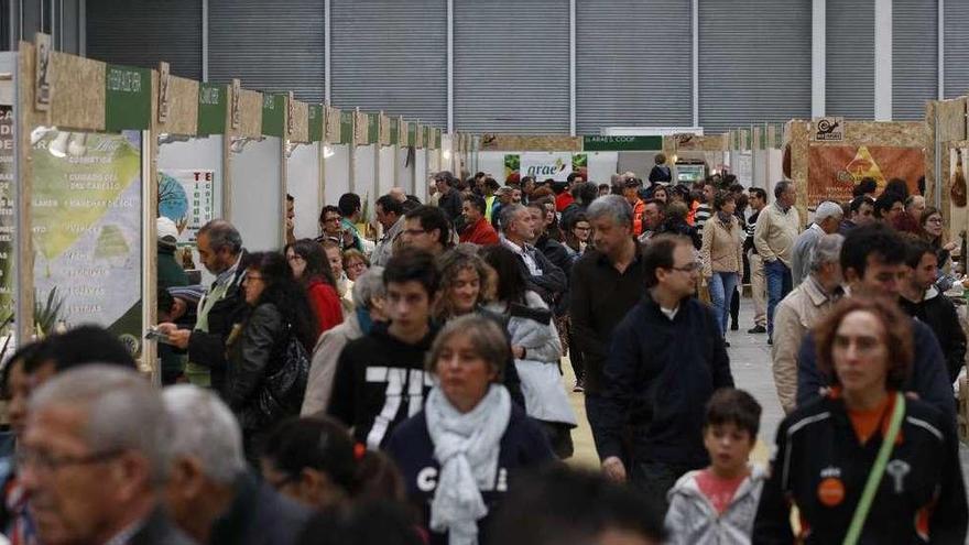
[[[434,340],[431,309],[440,273],[434,257],[402,248],[383,271],[390,325],[374,324],[351,340],[337,361],[327,413],[353,429],[369,448],[380,448],[398,424],[417,414],[431,390],[424,358]]]

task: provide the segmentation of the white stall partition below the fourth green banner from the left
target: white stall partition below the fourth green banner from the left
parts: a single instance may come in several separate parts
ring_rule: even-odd
[[[286,160],[286,192],[295,199],[293,232],[297,239],[319,235],[319,142],[300,144]]]

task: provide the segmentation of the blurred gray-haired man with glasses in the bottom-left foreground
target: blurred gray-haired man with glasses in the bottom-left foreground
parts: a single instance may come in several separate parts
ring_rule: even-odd
[[[138,372],[91,364],[30,401],[18,469],[41,543],[188,544],[167,519],[172,424]]]

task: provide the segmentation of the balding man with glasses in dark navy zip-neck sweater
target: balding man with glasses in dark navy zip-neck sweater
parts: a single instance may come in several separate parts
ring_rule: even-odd
[[[617,326],[603,369],[602,469],[627,480],[624,424],[633,428],[629,479],[660,505],[692,469],[709,465],[704,410],[732,386],[730,360],[712,310],[693,297],[700,263],[685,237],[654,238],[643,252],[647,294]]]

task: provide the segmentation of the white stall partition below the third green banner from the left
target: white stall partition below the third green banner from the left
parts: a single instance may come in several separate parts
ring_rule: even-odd
[[[281,179],[283,155],[280,139],[266,137],[248,142],[231,153],[232,224],[249,251],[279,250],[283,242]]]

